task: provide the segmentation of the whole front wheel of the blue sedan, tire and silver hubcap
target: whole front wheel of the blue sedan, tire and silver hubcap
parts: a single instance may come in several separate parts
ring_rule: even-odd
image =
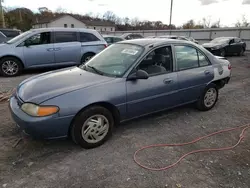
[[[114,119],[109,110],[92,106],[80,113],[72,126],[73,141],[85,149],[102,145],[112,135]]]

